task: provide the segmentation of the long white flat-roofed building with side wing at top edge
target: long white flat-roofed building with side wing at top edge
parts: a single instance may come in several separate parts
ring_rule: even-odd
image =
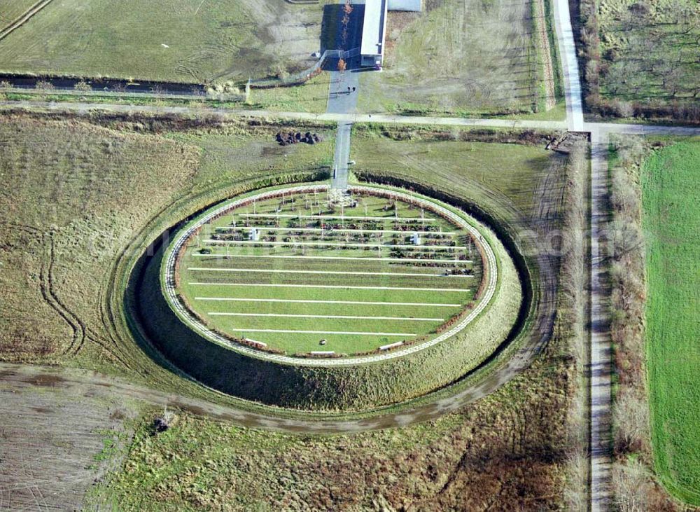
[[[365,0],[365,20],[360,47],[361,64],[365,67],[381,67],[384,62],[388,11],[420,12],[422,9],[423,0]]]

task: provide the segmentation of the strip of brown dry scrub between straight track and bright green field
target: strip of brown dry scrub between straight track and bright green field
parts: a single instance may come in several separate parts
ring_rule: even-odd
[[[639,166],[650,151],[640,137],[612,140],[610,336],[618,380],[612,408],[615,462],[612,487],[621,511],[675,511],[680,506],[652,471],[645,370],[645,254]]]

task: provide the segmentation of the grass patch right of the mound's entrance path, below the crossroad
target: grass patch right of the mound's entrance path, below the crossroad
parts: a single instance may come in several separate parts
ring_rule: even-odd
[[[451,193],[458,191],[508,223],[528,222],[538,214],[540,173],[556,172],[566,162],[566,158],[537,145],[481,141],[489,139],[489,134],[481,137],[459,131],[393,130],[381,125],[356,126],[353,134],[357,172],[386,174],[435,184]],[[503,139],[510,138],[503,135]],[[555,182],[548,193],[561,195],[561,191]]]

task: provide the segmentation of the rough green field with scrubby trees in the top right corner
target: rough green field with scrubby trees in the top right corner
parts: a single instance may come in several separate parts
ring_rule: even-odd
[[[587,102],[620,117],[697,122],[700,4],[582,0]]]

